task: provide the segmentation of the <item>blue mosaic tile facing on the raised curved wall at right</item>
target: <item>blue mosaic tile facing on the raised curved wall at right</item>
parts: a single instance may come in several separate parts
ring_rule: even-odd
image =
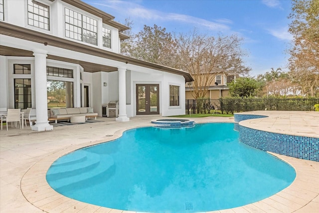
[[[261,116],[240,115],[238,120],[253,118]],[[234,120],[237,121],[236,117]],[[236,130],[239,131],[239,140],[242,143],[256,149],[319,162],[319,138],[266,132],[241,125],[237,125]]]

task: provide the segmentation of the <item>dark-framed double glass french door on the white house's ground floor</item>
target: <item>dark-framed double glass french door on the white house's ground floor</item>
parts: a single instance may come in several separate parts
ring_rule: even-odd
[[[136,85],[136,114],[160,114],[159,84]]]

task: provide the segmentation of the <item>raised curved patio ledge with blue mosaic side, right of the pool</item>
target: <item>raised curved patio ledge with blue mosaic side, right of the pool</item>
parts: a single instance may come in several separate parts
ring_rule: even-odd
[[[294,121],[294,113],[286,111],[235,113],[234,120],[239,140],[244,144],[263,151],[319,162],[318,131],[316,127],[313,129],[316,124],[307,122],[307,116],[317,117],[319,114],[305,112],[305,123],[300,119]],[[276,126],[278,121],[281,125]],[[292,121],[300,122],[299,129],[292,129]],[[305,133],[311,137],[305,136]]]

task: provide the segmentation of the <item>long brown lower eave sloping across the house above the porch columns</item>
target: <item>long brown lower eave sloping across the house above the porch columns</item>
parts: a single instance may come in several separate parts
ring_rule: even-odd
[[[143,66],[151,69],[156,69],[164,72],[174,73],[178,75],[182,75],[185,78],[185,82],[193,81],[194,79],[191,77],[191,75],[188,72],[185,72],[183,70],[163,66],[160,64],[148,62],[139,60],[136,58],[132,58],[129,56],[121,55],[118,53],[114,53],[108,50],[100,49],[97,47],[92,47],[86,44],[81,44],[75,41],[71,41],[65,38],[53,36],[51,34],[35,31],[33,29],[28,29],[25,27],[13,25],[10,23],[6,23],[3,21],[0,21],[0,34],[12,36],[24,40],[29,40],[37,43],[46,43],[46,45],[51,45],[55,47],[60,47],[64,49],[69,49],[72,51],[78,51],[90,55],[95,55],[119,62],[134,64],[138,66]]]

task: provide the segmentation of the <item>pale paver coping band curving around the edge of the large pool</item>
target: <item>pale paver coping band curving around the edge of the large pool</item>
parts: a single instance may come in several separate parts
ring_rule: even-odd
[[[207,122],[200,122],[207,123]],[[210,122],[208,122],[210,123]],[[151,124],[149,126],[152,126]],[[134,126],[124,128],[115,132],[108,139],[73,145],[57,150],[37,161],[23,175],[20,186],[24,198],[33,206],[44,212],[83,212],[83,213],[135,213],[91,205],[67,198],[55,192],[46,182],[45,175],[51,164],[59,157],[77,149],[93,146],[96,144],[113,141],[122,136],[123,132],[133,128],[145,126]],[[263,130],[265,131],[265,130]],[[211,211],[207,213],[227,212],[318,212],[319,210],[319,162],[301,160],[293,157],[283,156],[275,153],[272,155],[282,159],[295,168],[296,179],[281,192],[255,202],[228,210]],[[307,210],[307,211],[304,211]]]

